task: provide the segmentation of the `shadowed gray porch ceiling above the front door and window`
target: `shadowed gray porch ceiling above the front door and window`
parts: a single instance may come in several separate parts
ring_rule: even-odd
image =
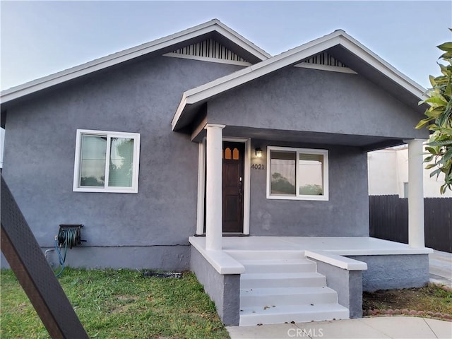
[[[206,136],[205,129],[199,129],[192,136],[192,141],[201,142]],[[359,136],[338,133],[319,133],[311,131],[285,131],[277,129],[255,129],[251,127],[226,126],[223,129],[223,137],[227,138],[252,138],[268,141],[311,143],[321,145],[344,145],[362,148],[363,151],[377,150],[392,147],[404,143],[402,139],[385,138],[381,136]]]

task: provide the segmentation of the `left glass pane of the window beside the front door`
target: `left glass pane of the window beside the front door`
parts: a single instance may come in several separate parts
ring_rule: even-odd
[[[297,153],[270,151],[271,194],[294,195]]]

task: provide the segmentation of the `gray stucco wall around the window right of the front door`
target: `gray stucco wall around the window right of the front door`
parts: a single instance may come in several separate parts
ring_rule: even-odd
[[[266,198],[266,169],[251,169],[250,234],[285,237],[369,236],[367,154],[359,148],[253,140],[263,157],[252,164],[267,167],[266,147],[322,148],[329,151],[329,200]]]

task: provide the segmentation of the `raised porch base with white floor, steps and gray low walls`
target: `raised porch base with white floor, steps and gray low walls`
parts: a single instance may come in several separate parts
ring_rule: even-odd
[[[206,237],[189,242],[191,270],[236,326],[359,318],[363,290],[427,284],[432,253],[372,237],[222,237],[214,251]]]

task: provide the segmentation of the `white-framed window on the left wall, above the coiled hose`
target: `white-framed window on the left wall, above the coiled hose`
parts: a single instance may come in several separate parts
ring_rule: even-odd
[[[140,134],[77,130],[73,191],[137,193]]]

